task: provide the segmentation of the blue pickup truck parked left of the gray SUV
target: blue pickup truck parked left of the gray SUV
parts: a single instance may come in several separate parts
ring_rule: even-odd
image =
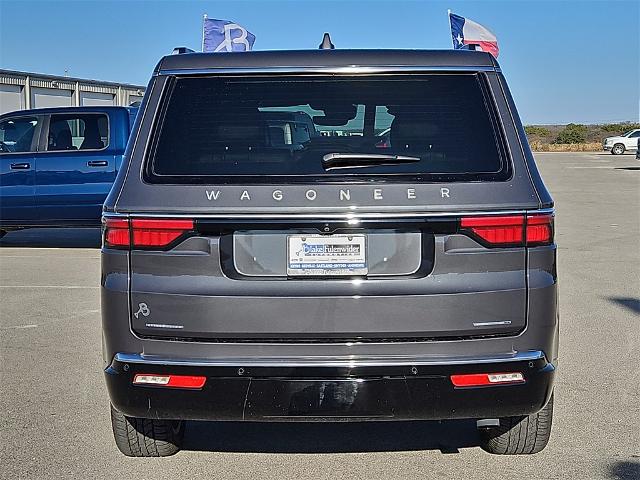
[[[99,226],[137,110],[60,107],[0,116],[0,237],[28,227]]]

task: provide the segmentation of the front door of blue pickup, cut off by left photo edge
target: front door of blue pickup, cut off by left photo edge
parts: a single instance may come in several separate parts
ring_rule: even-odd
[[[0,121],[0,223],[28,225],[36,219],[35,151],[42,116],[16,115]]]

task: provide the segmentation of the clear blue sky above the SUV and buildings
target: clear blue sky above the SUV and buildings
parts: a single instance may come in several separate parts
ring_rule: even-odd
[[[175,46],[201,48],[202,15],[254,50],[451,48],[447,9],[489,28],[527,124],[640,120],[640,1],[0,0],[0,68],[146,85]]]

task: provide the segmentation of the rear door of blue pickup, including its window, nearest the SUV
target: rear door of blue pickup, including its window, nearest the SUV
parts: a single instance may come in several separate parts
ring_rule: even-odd
[[[36,155],[40,223],[99,225],[115,180],[106,113],[51,114]]]

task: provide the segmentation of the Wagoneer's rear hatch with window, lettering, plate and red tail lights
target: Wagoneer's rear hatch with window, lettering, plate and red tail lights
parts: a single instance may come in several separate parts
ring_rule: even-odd
[[[527,237],[551,227],[527,225],[539,204],[495,80],[162,77],[144,182],[121,195],[138,205],[117,206],[106,233],[131,249],[133,330],[287,342],[521,331]]]

